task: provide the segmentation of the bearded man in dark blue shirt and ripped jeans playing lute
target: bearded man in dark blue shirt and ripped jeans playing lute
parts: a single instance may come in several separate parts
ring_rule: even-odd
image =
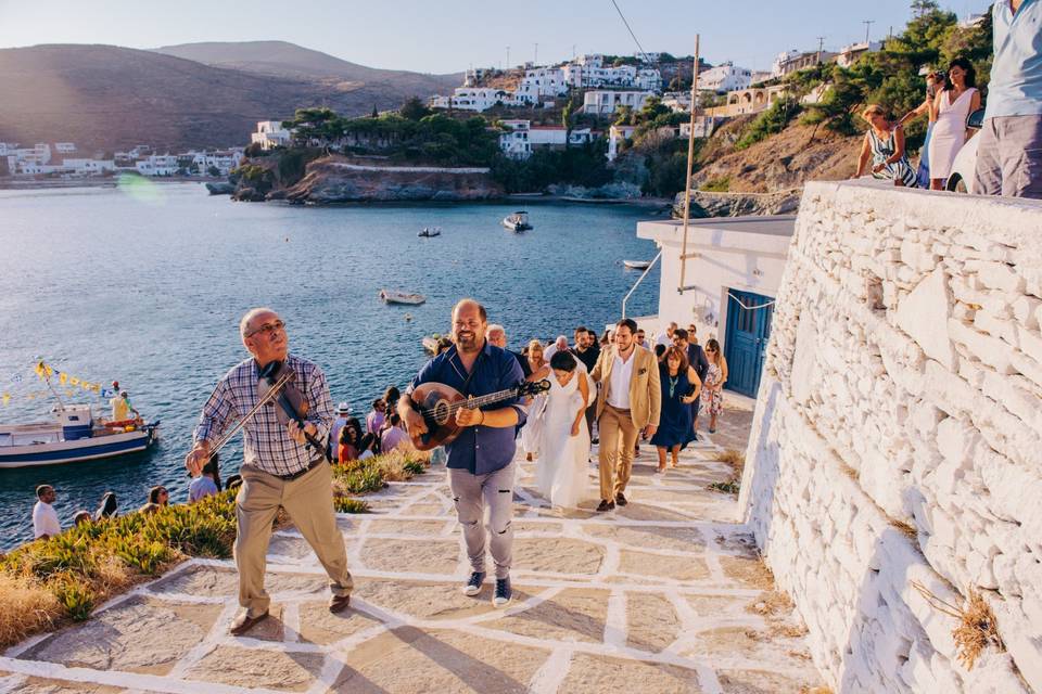
[[[412,391],[424,383],[441,383],[465,396],[476,397],[512,388],[524,381],[513,355],[487,343],[487,329],[488,316],[478,301],[461,299],[453,308],[453,347],[429,361],[398,401],[398,412],[409,435],[428,430],[411,398]],[[524,422],[524,406],[517,398],[486,408],[460,408],[456,423],[463,430],[446,447],[449,486],[473,570],[463,592],[476,595],[485,579],[482,519],[488,506],[488,544],[496,567],[493,604],[497,607],[509,603],[512,594],[514,429]]]

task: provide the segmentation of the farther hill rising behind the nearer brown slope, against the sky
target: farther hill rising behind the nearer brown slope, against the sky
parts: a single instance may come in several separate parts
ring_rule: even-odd
[[[462,83],[462,74],[459,73],[427,75],[366,67],[287,41],[181,43],[164,46],[154,51],[258,75],[379,87],[397,98],[395,105],[412,95],[425,99],[431,94],[446,93]]]

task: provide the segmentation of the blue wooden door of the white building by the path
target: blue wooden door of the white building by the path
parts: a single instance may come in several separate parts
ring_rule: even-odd
[[[750,398],[757,397],[760,388],[760,372],[763,371],[774,314],[771,301],[771,297],[737,290],[729,290],[727,296],[724,357],[727,358],[728,374],[724,387]]]

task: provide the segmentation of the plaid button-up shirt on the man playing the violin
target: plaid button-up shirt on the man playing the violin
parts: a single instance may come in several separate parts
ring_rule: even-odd
[[[309,406],[306,421],[318,427],[315,438],[325,441],[333,421],[333,401],[329,397],[326,374],[317,364],[292,355],[287,357],[285,365],[296,374],[293,385]],[[195,427],[195,441],[213,444],[229,424],[249,412],[259,399],[259,382],[260,374],[253,358],[232,367],[203,406]],[[260,408],[242,427],[243,458],[245,463],[266,473],[292,475],[310,465],[321,452],[307,450],[290,438],[287,425],[279,423],[278,409],[274,402]]]

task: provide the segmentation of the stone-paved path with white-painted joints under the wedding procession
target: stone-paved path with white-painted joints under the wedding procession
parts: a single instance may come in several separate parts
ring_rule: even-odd
[[[356,579],[346,614],[328,613],[314,554],[281,531],[274,618],[249,638],[227,634],[232,564],[192,561],[9,651],[0,693],[806,691],[819,680],[802,628],[733,523],[734,497],[706,488],[729,473],[715,450],[688,451],[660,476],[645,447],[632,503],[609,514],[548,507],[524,463],[506,609],[492,607],[491,586],[460,593],[469,567],[433,471],[371,497],[373,514],[340,517]]]

